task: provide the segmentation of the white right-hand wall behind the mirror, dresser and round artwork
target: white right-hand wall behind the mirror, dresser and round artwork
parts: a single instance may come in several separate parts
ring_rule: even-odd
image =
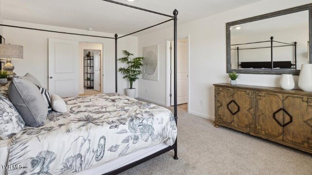
[[[226,77],[227,22],[262,15],[298,5],[311,0],[263,0],[210,17],[178,25],[178,36],[190,35],[190,104],[193,114],[214,119],[214,83],[229,82]],[[178,10],[178,9],[177,9]],[[179,18],[179,17],[178,17]],[[138,53],[145,46],[159,44],[159,81],[140,79],[139,96],[165,104],[166,39],[173,37],[173,28],[138,37]],[[279,75],[243,74],[239,84],[278,87]],[[295,76],[297,82],[298,77]],[[144,89],[149,93],[145,93]],[[200,105],[203,100],[203,105]]]

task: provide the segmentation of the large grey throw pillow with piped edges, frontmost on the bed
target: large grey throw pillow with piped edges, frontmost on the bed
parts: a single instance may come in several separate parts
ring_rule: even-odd
[[[26,125],[39,127],[45,123],[48,107],[35,84],[28,80],[13,78],[8,93]]]

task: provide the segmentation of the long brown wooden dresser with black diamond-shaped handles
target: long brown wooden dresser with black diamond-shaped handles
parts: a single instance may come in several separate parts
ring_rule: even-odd
[[[215,84],[215,127],[226,126],[312,153],[312,93]]]

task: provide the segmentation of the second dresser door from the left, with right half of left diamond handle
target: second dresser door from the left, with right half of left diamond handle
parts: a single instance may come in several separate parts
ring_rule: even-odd
[[[234,126],[247,132],[254,132],[254,91],[234,89],[232,112]]]

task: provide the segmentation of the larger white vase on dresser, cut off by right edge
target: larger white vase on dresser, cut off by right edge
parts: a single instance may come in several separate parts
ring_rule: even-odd
[[[303,91],[312,92],[312,64],[302,64],[298,86]]]

